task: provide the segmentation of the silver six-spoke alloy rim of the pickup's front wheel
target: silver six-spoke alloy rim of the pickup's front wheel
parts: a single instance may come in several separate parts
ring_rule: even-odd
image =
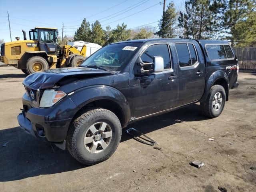
[[[112,129],[106,122],[96,122],[88,128],[84,136],[84,146],[90,153],[100,153],[112,140]]]

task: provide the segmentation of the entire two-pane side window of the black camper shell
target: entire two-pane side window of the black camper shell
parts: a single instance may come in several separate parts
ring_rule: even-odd
[[[229,45],[206,45],[206,51],[210,60],[233,59],[234,54]]]

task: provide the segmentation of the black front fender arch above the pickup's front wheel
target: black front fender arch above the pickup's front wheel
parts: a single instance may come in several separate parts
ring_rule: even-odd
[[[122,109],[125,123],[131,118],[130,106],[125,96],[117,89],[106,85],[95,85],[76,90],[70,99],[78,106],[78,110],[97,100],[111,100]]]

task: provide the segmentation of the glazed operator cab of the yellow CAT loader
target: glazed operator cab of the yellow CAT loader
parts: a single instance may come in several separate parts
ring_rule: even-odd
[[[38,40],[39,50],[48,55],[56,54],[57,51],[57,28],[34,28],[29,31],[30,40]]]

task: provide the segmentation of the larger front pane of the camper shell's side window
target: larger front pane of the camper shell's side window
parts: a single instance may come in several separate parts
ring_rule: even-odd
[[[206,45],[206,50],[210,60],[227,59],[223,45]]]

